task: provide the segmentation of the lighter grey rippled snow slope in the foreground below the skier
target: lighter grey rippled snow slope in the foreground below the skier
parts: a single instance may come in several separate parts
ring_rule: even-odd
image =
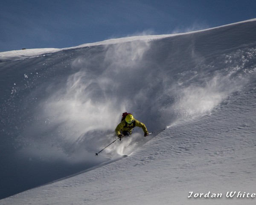
[[[255,86],[229,95],[209,115],[174,124],[125,159],[0,202],[254,205],[255,198],[226,193],[255,193]],[[189,192],[209,191],[222,196],[188,198]]]

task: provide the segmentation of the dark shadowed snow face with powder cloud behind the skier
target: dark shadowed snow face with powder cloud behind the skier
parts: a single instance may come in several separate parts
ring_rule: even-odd
[[[1,198],[130,154],[152,139],[136,129],[133,138],[96,158],[115,139],[122,112],[154,131],[216,111],[253,85],[255,33],[256,21],[249,21],[155,40],[49,50],[18,61],[5,56]],[[180,141],[188,137],[182,133]],[[173,140],[170,130],[164,135]]]

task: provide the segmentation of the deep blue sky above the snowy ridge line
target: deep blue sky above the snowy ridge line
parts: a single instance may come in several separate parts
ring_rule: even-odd
[[[0,52],[65,48],[256,18],[255,0],[0,0]]]

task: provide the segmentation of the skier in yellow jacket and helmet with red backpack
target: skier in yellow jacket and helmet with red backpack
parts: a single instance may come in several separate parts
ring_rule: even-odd
[[[145,124],[134,119],[131,113],[123,113],[121,122],[116,127],[116,135],[120,139],[124,136],[130,136],[134,127],[141,127],[144,131],[144,137],[148,136],[148,130]]]

